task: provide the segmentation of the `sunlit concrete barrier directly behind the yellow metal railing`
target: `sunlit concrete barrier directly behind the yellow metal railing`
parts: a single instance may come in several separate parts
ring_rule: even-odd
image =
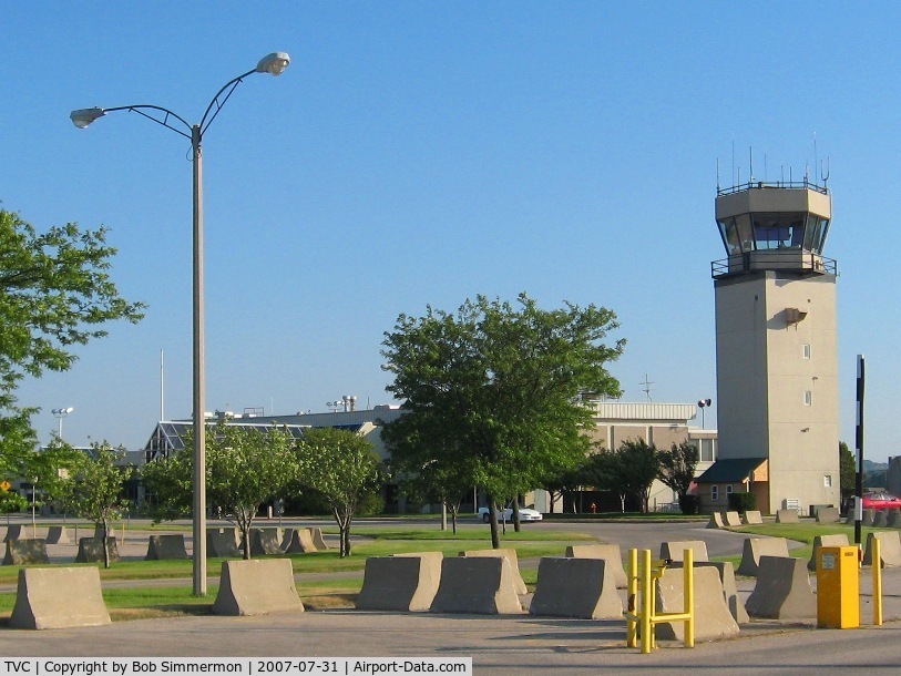
[[[738,634],[738,623],[726,606],[719,572],[713,566],[694,569],[695,641],[714,641]],[[682,567],[667,567],[657,584],[657,610],[682,613],[685,597]],[[657,638],[684,641],[685,624],[664,622],[657,625]]]

